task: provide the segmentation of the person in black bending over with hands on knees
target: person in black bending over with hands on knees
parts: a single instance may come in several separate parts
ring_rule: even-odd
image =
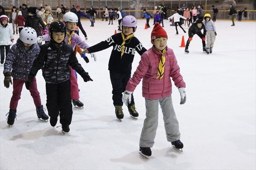
[[[201,32],[201,30],[204,30],[204,33]],[[192,24],[192,26],[189,27],[189,39],[186,42],[186,48],[185,53],[189,53],[189,43],[192,41],[192,37],[197,34],[198,37],[202,39],[203,43],[203,51],[206,52],[206,43],[205,43],[205,36],[206,36],[206,28],[202,22],[202,20],[197,20],[195,23]]]

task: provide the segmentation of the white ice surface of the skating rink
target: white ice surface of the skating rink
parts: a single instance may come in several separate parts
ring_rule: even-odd
[[[138,20],[135,36],[146,49],[151,47],[146,20]],[[82,21],[88,45],[94,45],[114,34],[113,25],[96,20]],[[6,113],[12,97],[12,85],[3,85],[3,65],[0,65],[0,169],[67,170],[67,169],[256,169],[256,23],[215,22],[217,37],[213,52],[203,53],[201,39],[195,35],[189,54],[180,48],[182,36],[188,33],[164,20],[168,47],[177,57],[186,82],[187,101],[180,105],[180,94],[173,85],[173,105],[180,125],[183,152],[166,140],[163,115],[159,124],[152,156],[147,160],[139,152],[139,139],[145,119],[145,100],[141,83],[134,91],[138,119],[129,116],[116,119],[112,102],[112,86],[108,60],[112,48],[97,52],[97,61],[87,54],[89,63],[77,55],[93,82],[83,82],[78,76],[80,100],[84,108],[73,108],[70,132],[38,120],[35,105],[25,85],[17,107],[17,120],[11,127]],[[188,32],[188,30],[186,29]],[[80,32],[82,40],[84,36]],[[18,35],[15,34],[15,42]],[[140,55],[136,53],[132,73]],[[45,82],[41,71],[37,75],[38,90],[46,108]],[[48,112],[46,111],[48,114]],[[58,122],[57,126],[61,124]]]

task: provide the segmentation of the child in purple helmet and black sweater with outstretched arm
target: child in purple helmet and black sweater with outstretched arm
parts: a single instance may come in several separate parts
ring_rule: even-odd
[[[122,92],[125,91],[128,80],[131,78],[131,64],[134,60],[135,51],[142,55],[147,51],[140,41],[134,37],[134,32],[137,29],[137,20],[134,16],[125,16],[122,20],[122,32],[109,37],[107,40],[99,42],[84,51],[94,53],[102,51],[113,46],[111,56],[108,63],[110,79],[112,84],[112,99],[116,110],[116,117],[123,119],[122,111]],[[131,103],[128,105],[128,110],[131,116],[137,118],[139,113],[135,110],[134,98],[131,97]]]

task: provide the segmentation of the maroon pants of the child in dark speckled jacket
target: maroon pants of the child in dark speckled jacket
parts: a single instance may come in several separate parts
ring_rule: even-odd
[[[10,109],[17,109],[18,101],[20,99],[22,87],[25,80],[17,80],[13,79],[13,91],[12,91],[12,98],[10,102]],[[41,106],[41,98],[40,94],[37,89],[36,79],[32,80],[32,83],[29,87],[29,92],[34,100],[35,107]]]

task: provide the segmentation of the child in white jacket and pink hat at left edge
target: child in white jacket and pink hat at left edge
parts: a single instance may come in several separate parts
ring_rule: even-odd
[[[4,62],[4,53],[8,54],[10,50],[10,46],[13,43],[14,36],[12,33],[12,27],[8,23],[8,17],[6,15],[0,16],[0,56],[1,56],[1,64]]]

